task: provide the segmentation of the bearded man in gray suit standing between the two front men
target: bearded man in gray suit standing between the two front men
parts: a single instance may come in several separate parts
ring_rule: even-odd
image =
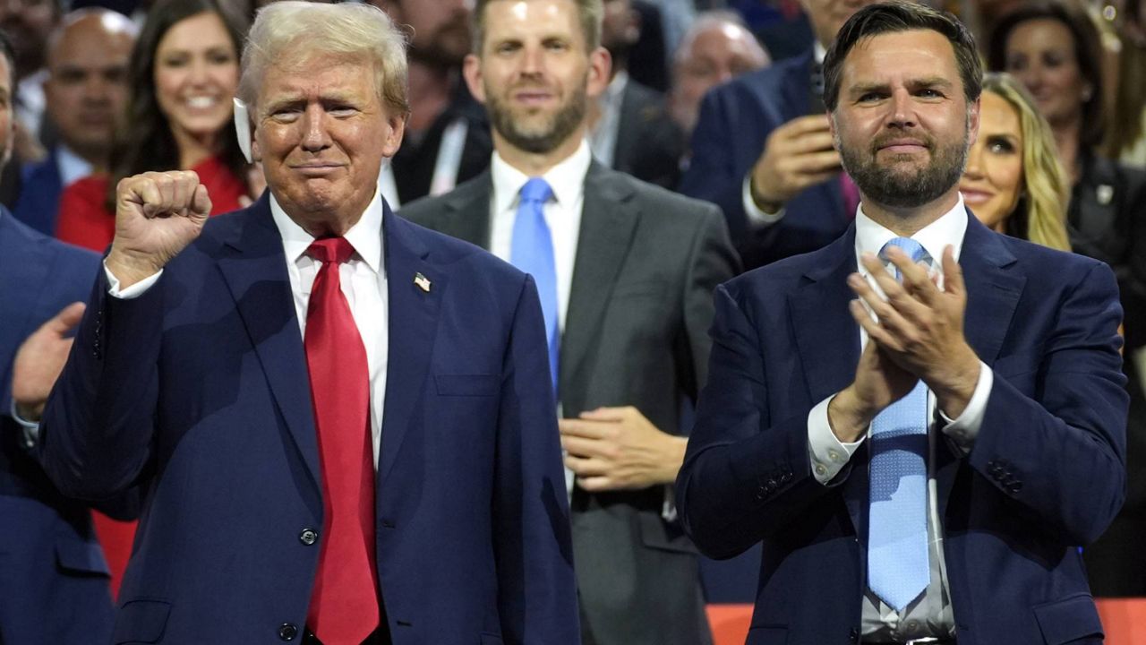
[[[601,0],[479,0],[464,67],[490,169],[401,215],[537,280],[560,404],[584,642],[711,643],[668,487],[707,373],[712,293],[739,261],[720,211],[592,161]]]

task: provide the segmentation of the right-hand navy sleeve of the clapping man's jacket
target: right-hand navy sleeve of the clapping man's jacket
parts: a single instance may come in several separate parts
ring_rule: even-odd
[[[1114,274],[1094,263],[1066,290],[1042,351],[996,363],[970,456],[1003,495],[1073,544],[1098,538],[1125,497],[1121,317]]]

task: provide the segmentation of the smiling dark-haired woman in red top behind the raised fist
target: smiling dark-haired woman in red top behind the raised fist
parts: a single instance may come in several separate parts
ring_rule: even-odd
[[[160,0],[132,54],[132,101],[111,151],[111,172],[86,177],[60,197],[56,236],[103,251],[115,236],[115,192],[124,177],[194,170],[212,215],[250,203],[248,166],[231,125],[245,25],[213,0]]]

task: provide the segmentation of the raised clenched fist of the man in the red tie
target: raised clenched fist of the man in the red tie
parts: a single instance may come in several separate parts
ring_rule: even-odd
[[[193,171],[144,172],[116,187],[108,269],[121,288],[157,273],[203,231],[211,197]]]

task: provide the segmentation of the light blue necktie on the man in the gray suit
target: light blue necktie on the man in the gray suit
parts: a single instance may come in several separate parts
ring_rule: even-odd
[[[521,187],[521,199],[513,219],[513,240],[510,242],[510,263],[533,275],[541,297],[541,313],[545,319],[545,339],[549,341],[549,375],[557,393],[557,357],[560,335],[557,331],[557,264],[554,261],[554,239],[545,223],[545,202],[554,196],[545,180],[534,177]]]

